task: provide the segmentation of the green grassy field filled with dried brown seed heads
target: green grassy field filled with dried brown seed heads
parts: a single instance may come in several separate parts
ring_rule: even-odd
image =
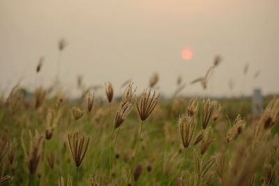
[[[57,85],[56,85],[57,86]],[[278,98],[160,99],[132,83],[107,99],[56,86],[0,107],[0,185],[278,185]],[[152,86],[150,86],[152,87]]]

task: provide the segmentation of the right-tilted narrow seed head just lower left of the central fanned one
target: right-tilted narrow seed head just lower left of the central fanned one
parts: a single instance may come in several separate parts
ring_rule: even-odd
[[[114,130],[123,123],[130,111],[133,109],[133,104],[126,102],[124,105],[122,103],[119,106],[116,116],[114,118]]]

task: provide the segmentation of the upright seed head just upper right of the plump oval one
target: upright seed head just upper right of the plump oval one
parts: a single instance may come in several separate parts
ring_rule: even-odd
[[[205,130],[209,124],[210,118],[216,109],[217,102],[211,100],[202,101],[201,118],[202,118],[202,128]]]

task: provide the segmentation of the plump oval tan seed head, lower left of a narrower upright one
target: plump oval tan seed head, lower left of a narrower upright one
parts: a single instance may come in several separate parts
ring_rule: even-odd
[[[179,118],[179,133],[181,135],[184,148],[188,148],[190,145],[195,134],[196,125],[196,118],[191,116],[182,116]]]

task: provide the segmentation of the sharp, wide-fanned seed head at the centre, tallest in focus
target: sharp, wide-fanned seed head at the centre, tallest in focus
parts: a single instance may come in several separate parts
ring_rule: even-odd
[[[159,100],[160,94],[156,94],[156,91],[153,91],[153,95],[151,94],[151,90],[144,90],[140,100],[137,101],[137,111],[142,121],[145,121],[146,118],[148,118]]]

